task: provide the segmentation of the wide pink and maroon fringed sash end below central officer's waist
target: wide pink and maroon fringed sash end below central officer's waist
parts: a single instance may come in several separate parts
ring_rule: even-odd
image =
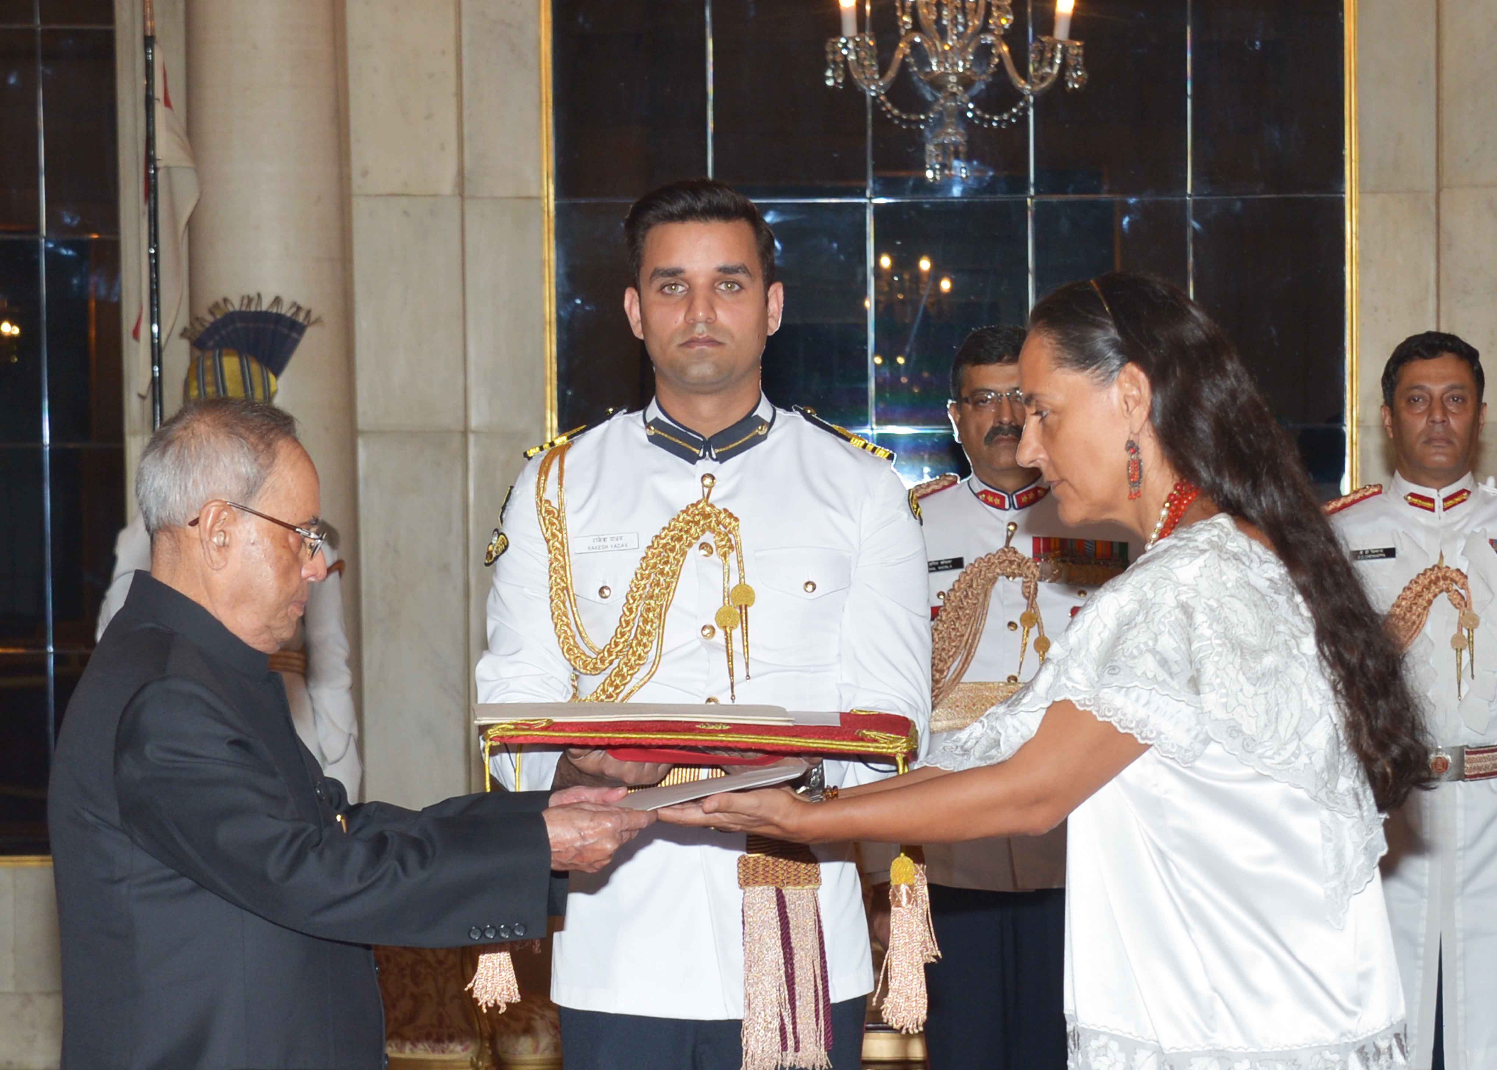
[[[805,848],[753,838],[750,853],[738,859],[744,892],[743,1070],[831,1070],[831,991],[816,896],[820,883],[820,866]]]

